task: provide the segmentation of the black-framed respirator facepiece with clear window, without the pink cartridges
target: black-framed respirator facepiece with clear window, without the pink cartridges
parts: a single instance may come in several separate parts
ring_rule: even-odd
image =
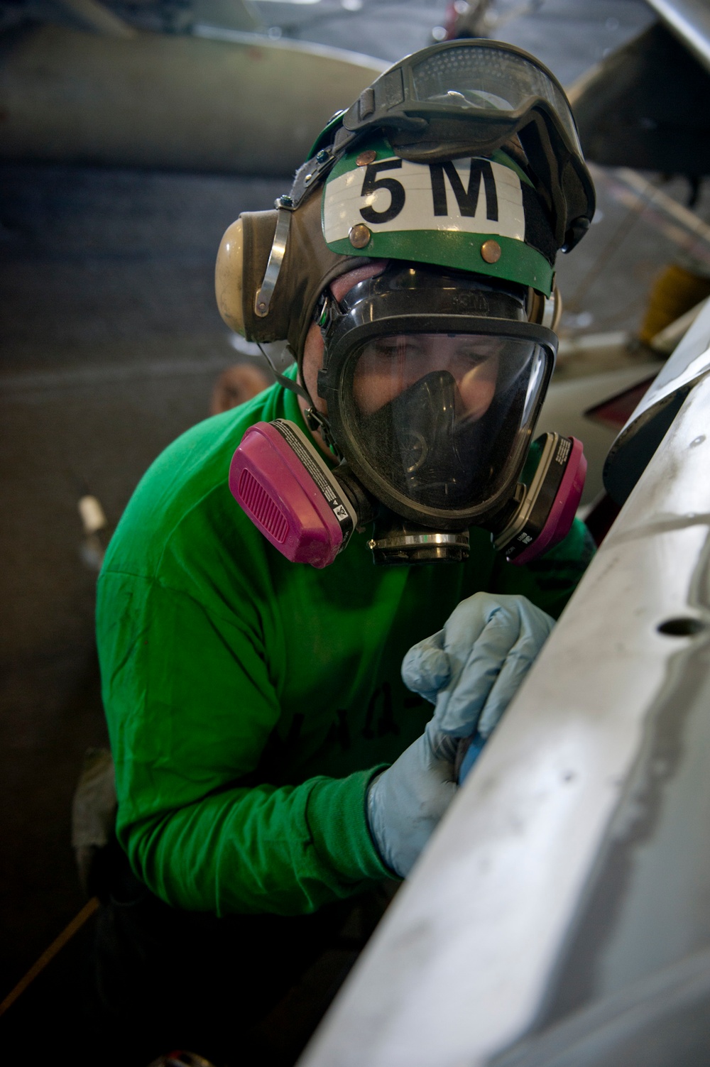
[[[330,316],[318,391],[367,491],[438,529],[500,511],[525,461],[554,334],[525,321],[510,293],[401,265]]]

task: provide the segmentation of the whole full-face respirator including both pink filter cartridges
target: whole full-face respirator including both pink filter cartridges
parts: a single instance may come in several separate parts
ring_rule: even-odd
[[[279,552],[328,567],[373,523],[376,563],[456,562],[479,526],[525,563],[567,534],[586,462],[573,437],[530,447],[556,338],[527,321],[523,293],[406,264],[340,302],[329,291],[327,410],[305,416],[340,465],[278,418],[248,428],[230,468],[232,493]]]

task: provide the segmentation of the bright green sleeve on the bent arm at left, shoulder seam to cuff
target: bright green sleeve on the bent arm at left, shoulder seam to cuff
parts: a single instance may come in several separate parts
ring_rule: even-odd
[[[109,572],[98,592],[119,840],[177,907],[297,914],[389,876],[367,830],[381,768],[296,784],[244,779],[280,706],[258,635],[155,578]]]

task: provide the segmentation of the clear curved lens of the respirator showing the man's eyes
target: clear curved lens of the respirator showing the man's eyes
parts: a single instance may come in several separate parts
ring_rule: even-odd
[[[546,367],[546,350],[527,338],[374,338],[349,361],[356,448],[409,501],[448,512],[484,504],[527,446]]]

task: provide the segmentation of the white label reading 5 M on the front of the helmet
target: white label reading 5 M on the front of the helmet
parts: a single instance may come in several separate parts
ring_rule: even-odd
[[[412,163],[393,156],[331,178],[324,197],[330,244],[364,223],[373,234],[413,229],[525,239],[520,178],[490,159]]]

